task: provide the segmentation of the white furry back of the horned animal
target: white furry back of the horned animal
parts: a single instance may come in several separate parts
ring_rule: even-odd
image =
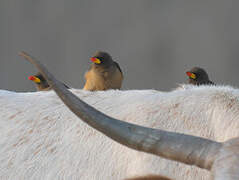
[[[239,136],[239,90],[232,87],[72,91],[107,115],[138,125],[217,141]],[[0,91],[1,180],[119,180],[146,174],[210,177],[206,170],[112,141],[81,122],[53,91]]]

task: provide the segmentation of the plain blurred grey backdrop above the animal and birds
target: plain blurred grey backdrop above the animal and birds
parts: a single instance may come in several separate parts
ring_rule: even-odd
[[[34,91],[25,50],[74,88],[97,50],[123,69],[123,89],[170,90],[204,67],[239,86],[239,1],[0,0],[0,89]]]

